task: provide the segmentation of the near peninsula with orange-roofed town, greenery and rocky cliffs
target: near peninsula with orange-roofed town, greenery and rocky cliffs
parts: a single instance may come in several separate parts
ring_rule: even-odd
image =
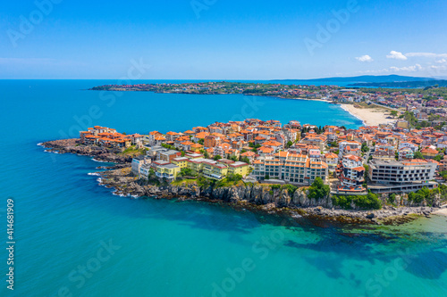
[[[115,194],[393,224],[399,220],[390,218],[428,217],[447,201],[447,133],[400,125],[248,119],[130,135],[95,126],[79,139],[42,145],[118,163],[98,173]]]

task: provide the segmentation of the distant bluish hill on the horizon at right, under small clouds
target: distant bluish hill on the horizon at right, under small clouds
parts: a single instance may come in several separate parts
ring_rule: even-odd
[[[273,81],[299,81],[299,82],[350,82],[350,83],[384,83],[384,82],[409,82],[409,81],[431,81],[434,78],[405,77],[401,75],[363,75],[359,77],[336,77],[336,78],[314,78],[314,79],[274,79]]]

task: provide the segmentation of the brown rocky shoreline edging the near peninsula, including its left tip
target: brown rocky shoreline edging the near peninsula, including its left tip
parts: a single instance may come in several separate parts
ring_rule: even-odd
[[[385,205],[382,210],[342,210],[334,207],[332,199],[309,199],[307,190],[299,188],[289,194],[287,189],[272,189],[269,185],[245,184],[238,186],[202,188],[195,183],[174,186],[172,184],[150,185],[148,181],[131,174],[131,157],[120,155],[115,151],[97,146],[86,146],[79,139],[65,139],[41,144],[46,152],[77,153],[93,157],[97,161],[116,163],[97,172],[99,184],[114,188],[114,194],[149,197],[155,199],[178,199],[207,202],[222,202],[235,208],[266,211],[271,214],[287,214],[291,218],[307,217],[310,219],[328,219],[343,223],[399,225],[419,216],[430,217],[440,207],[411,205],[404,197],[399,197],[400,207]],[[384,198],[382,199],[384,202]],[[440,202],[434,203],[439,206]]]

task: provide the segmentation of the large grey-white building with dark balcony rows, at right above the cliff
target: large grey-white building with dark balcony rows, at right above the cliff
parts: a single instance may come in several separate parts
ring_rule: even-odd
[[[425,160],[371,161],[368,188],[375,193],[414,192],[423,187],[433,188],[436,164]]]

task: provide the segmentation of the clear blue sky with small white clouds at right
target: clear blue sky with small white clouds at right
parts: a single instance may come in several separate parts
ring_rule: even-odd
[[[447,1],[4,1],[0,78],[447,78]]]

